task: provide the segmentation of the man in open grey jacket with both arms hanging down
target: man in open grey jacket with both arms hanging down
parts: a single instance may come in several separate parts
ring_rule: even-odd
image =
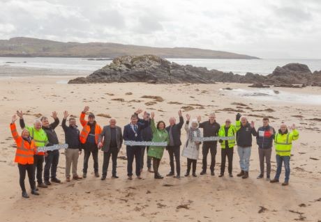
[[[105,180],[107,176],[107,169],[110,164],[110,156],[112,156],[112,178],[118,178],[117,168],[117,155],[123,144],[123,135],[121,133],[121,127],[116,126],[116,119],[110,119],[110,125],[103,127],[98,138],[98,148],[104,152],[103,160],[103,175],[101,180]]]

